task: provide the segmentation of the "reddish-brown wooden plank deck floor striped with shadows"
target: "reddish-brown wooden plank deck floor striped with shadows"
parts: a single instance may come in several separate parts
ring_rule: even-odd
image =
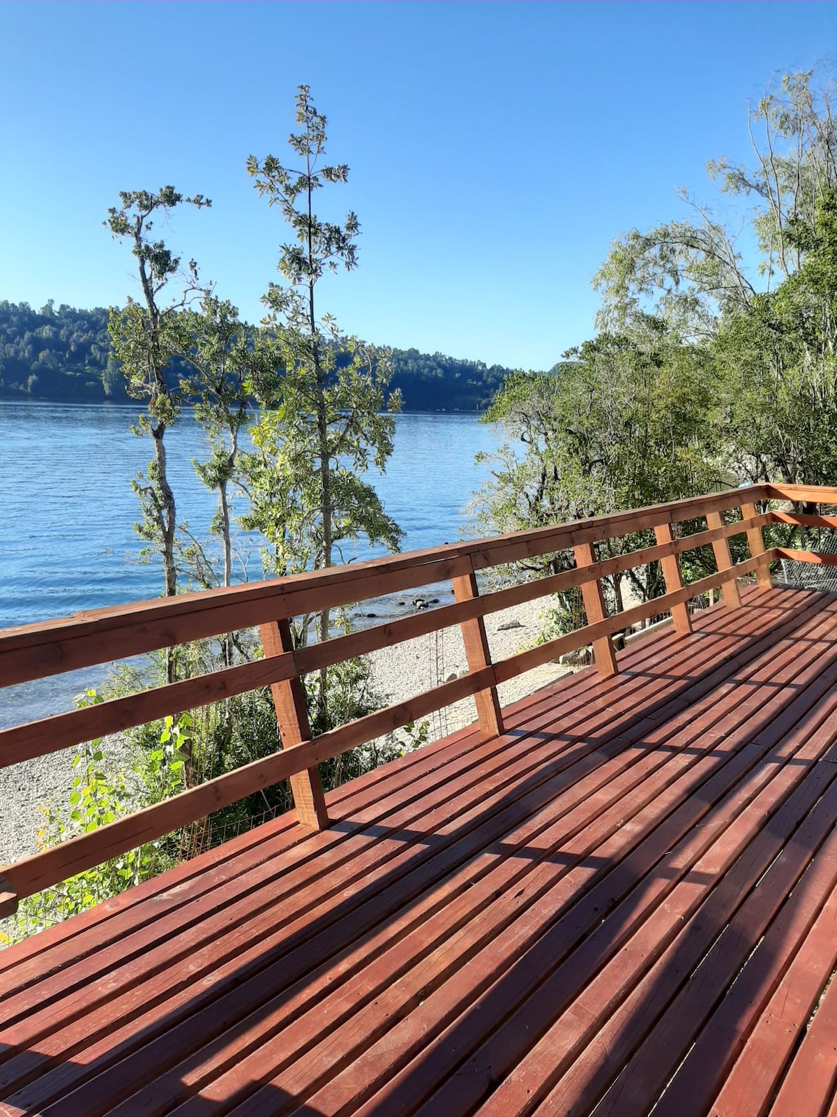
[[[748,590],[0,953],[0,1113],[837,1114],[837,595]]]

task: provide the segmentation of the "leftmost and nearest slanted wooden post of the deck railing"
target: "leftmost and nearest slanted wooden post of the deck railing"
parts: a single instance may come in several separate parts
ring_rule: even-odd
[[[259,632],[266,656],[280,656],[282,652],[294,650],[290,624],[287,620],[260,624]],[[311,729],[308,724],[305,691],[299,676],[296,675],[292,679],[282,679],[280,682],[271,684],[270,693],[273,696],[282,747],[290,748],[304,741],[310,741]],[[316,830],[325,829],[328,825],[328,811],[317,768],[310,767],[292,775],[290,787],[294,793],[297,821],[304,827],[312,827]]]

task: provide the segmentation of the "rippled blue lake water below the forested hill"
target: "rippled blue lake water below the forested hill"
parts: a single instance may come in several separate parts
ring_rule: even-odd
[[[133,405],[0,401],[0,628],[161,592],[158,565],[137,561],[133,528],[131,478],[151,452],[150,439],[129,431],[136,413]],[[493,450],[499,433],[475,416],[402,414],[395,423],[386,474],[367,476],[403,528],[404,550],[455,542],[469,533],[466,505],[488,474],[474,458]],[[205,536],[213,502],[192,467],[205,456],[203,435],[185,417],[166,445],[179,519]],[[372,554],[363,543],[349,548],[347,560]],[[257,551],[249,576],[261,576]],[[99,677],[74,672],[0,691],[0,725],[65,709]]]

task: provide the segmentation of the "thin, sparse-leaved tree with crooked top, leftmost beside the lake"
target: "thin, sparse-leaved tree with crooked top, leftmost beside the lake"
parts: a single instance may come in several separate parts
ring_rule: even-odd
[[[114,354],[122,363],[128,394],[147,401],[135,429],[138,435],[151,437],[154,457],[146,476],[133,483],[143,513],[137,531],[160,552],[164,593],[172,596],[177,592],[176,505],[169,481],[165,432],[177,420],[182,391],[176,381],[172,383],[169,370],[172,359],[184,355],[191,347],[186,321],[179,312],[190,294],[200,288],[194,260],[183,275],[180,257],[164,241],[153,240],[152,230],[157,214],[167,218],[176,206],[202,209],[211,202],[202,194],[184,198],[173,187],[163,187],[155,194],[146,190],[121,191],[119,201],[121,208],[112,207],[105,223],[115,239],[126,239],[131,245],[142,302],[128,298],[122,309],[113,307],[108,333]],[[182,289],[163,303],[163,293],[175,277],[182,278]]]

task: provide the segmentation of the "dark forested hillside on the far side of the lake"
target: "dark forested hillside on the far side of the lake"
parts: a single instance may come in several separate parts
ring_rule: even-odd
[[[391,389],[407,411],[483,411],[510,372],[443,353],[393,351]],[[0,399],[127,401],[107,311],[0,302]]]

